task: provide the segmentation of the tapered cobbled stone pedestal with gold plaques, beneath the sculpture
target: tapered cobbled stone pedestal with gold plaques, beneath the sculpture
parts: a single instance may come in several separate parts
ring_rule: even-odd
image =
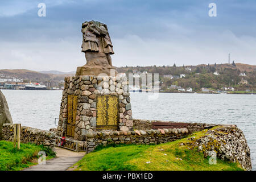
[[[126,77],[65,77],[57,135],[84,141],[88,131],[120,129],[133,129]]]

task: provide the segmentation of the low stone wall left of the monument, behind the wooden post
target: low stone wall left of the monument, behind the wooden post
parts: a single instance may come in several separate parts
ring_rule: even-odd
[[[7,141],[13,141],[14,136],[14,125],[4,124],[3,125],[3,138]],[[34,129],[27,126],[22,126],[20,134],[21,143],[34,143],[37,145],[42,144],[43,146],[54,148],[55,147],[55,133],[52,131],[45,131]]]

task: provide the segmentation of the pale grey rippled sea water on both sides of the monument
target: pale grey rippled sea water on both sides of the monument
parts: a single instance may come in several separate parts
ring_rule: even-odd
[[[62,92],[2,90],[15,123],[49,130],[56,127]],[[243,130],[256,170],[256,95],[131,93],[133,118],[235,124]]]

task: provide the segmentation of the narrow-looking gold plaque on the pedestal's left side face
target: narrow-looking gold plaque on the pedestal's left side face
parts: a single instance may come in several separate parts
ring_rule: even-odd
[[[75,136],[76,127],[76,112],[77,112],[77,96],[68,96],[68,123],[67,123],[67,136]]]

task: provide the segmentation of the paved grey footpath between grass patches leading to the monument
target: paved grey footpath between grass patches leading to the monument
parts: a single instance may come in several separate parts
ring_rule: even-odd
[[[85,152],[74,152],[56,147],[56,158],[46,160],[46,164],[37,164],[23,171],[66,171],[81,160],[84,155]]]

